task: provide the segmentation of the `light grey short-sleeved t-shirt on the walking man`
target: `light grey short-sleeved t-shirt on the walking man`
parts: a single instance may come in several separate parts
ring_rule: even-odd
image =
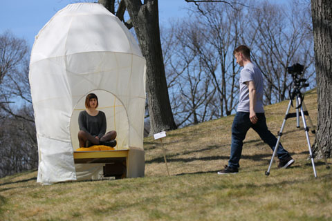
[[[256,103],[255,103],[255,112],[264,113],[263,107],[263,94],[264,94],[264,82],[261,75],[261,70],[252,64],[246,64],[240,72],[240,98],[239,105],[237,106],[238,112],[250,112],[249,104],[249,89],[246,85],[247,81],[254,81],[256,89]]]

